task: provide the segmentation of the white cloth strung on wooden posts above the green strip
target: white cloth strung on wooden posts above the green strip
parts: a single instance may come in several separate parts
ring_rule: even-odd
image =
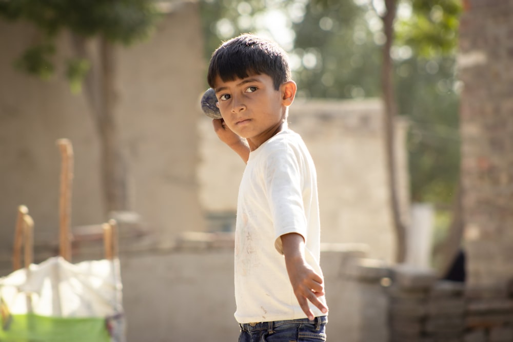
[[[123,312],[120,261],[71,264],[54,256],[0,278],[0,297],[11,314],[116,316]]]

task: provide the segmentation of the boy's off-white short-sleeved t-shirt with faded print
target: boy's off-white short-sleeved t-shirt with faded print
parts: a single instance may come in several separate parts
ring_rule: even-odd
[[[315,166],[299,134],[288,129],[250,153],[242,176],[235,229],[239,323],[306,318],[285,266],[280,236],[287,233],[304,237],[306,261],[322,275]]]

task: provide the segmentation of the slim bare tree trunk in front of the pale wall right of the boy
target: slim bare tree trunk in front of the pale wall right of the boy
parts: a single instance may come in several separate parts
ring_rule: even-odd
[[[406,228],[401,219],[398,196],[398,182],[396,170],[396,153],[394,149],[395,133],[394,122],[397,113],[396,98],[393,90],[393,65],[390,49],[393,42],[393,21],[396,17],[396,0],[385,0],[386,13],[383,15],[384,33],[386,42],[383,46],[383,65],[381,75],[381,88],[383,91],[385,155],[388,185],[390,189],[390,205],[392,220],[396,232],[396,261],[404,262],[406,259]]]

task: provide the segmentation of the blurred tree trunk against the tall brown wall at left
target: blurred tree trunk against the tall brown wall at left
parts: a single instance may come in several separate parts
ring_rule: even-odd
[[[105,38],[100,38],[98,55],[93,58],[86,48],[84,38],[73,35],[73,45],[78,55],[92,63],[85,80],[85,94],[100,139],[100,174],[104,211],[128,208],[127,174],[120,144],[119,128],[115,120],[115,49]]]

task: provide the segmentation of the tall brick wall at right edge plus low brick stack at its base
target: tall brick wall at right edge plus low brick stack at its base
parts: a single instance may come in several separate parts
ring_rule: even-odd
[[[466,283],[392,268],[391,342],[513,340],[513,2],[464,6],[458,77]]]

